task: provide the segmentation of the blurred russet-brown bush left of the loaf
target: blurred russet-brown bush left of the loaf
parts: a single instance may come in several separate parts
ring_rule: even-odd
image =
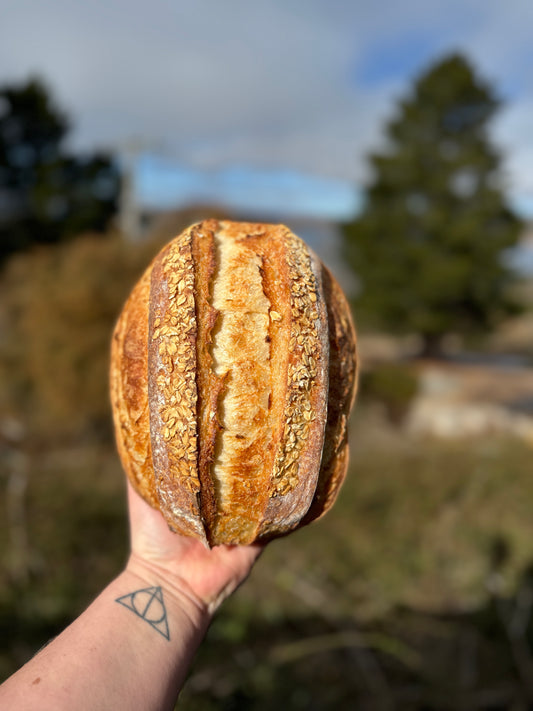
[[[12,258],[0,281],[0,420],[29,439],[109,434],[111,331],[157,248],[87,234]]]

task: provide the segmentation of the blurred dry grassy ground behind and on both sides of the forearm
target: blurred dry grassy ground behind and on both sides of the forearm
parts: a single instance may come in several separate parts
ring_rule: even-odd
[[[377,425],[360,408],[335,508],[267,547],[219,613],[178,708],[350,709],[355,699],[485,708],[475,694],[524,696],[501,610],[530,590],[531,451],[505,440],[414,442]],[[27,574],[4,568],[0,586],[3,675],[120,569],[123,489],[116,455],[101,445],[30,463]],[[0,534],[5,560],[9,531]]]

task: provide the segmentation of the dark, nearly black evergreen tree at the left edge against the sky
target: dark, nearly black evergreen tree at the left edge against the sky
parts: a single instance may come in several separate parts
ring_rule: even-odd
[[[42,82],[0,87],[0,262],[34,243],[103,229],[114,214],[117,168],[107,155],[66,151],[68,129]]]

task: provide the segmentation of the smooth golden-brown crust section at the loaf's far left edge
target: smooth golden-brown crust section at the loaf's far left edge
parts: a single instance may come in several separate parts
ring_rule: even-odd
[[[148,409],[149,268],[117,322],[111,343],[111,402],[118,452],[135,490],[157,506]]]

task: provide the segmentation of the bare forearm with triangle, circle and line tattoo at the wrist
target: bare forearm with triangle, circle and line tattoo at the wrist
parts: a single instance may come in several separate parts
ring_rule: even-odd
[[[0,708],[172,709],[208,624],[156,570],[130,566],[0,687]]]

